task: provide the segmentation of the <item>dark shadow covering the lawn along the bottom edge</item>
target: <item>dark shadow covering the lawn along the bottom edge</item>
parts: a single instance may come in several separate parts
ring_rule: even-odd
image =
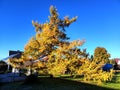
[[[33,80],[29,84],[24,82],[6,84],[6,87],[4,85],[0,90],[114,90],[64,78],[39,77],[38,79],[40,82]]]

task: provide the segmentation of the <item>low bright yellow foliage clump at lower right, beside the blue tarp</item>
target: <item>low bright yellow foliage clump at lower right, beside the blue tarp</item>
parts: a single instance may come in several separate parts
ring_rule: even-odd
[[[113,71],[105,72],[102,71],[103,62],[85,60],[85,63],[78,70],[79,75],[84,75],[84,80],[90,81],[93,80],[98,84],[101,82],[110,81],[113,76]]]

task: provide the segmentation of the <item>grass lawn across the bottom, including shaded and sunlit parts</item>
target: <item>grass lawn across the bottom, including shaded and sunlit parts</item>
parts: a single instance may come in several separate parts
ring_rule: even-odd
[[[80,78],[71,77],[39,77],[39,82],[24,84],[23,82],[7,83],[0,86],[0,90],[120,90],[120,73],[116,74],[112,82],[97,85],[81,82]]]

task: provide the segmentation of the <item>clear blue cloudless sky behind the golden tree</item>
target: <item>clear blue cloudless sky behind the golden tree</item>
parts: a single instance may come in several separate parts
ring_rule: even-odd
[[[111,58],[120,57],[120,0],[0,0],[0,59],[7,57],[9,50],[24,51],[35,35],[32,20],[46,22],[51,5],[60,18],[78,16],[66,28],[70,41],[85,39],[80,48],[90,54],[99,46],[106,48]]]

